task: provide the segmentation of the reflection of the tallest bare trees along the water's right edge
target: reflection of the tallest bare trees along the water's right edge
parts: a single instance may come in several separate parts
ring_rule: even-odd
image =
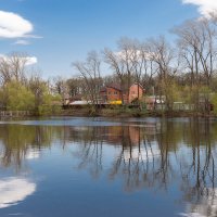
[[[216,141],[213,127],[206,120],[201,125],[197,120],[190,128],[191,157],[189,164],[180,163],[182,174],[181,189],[184,201],[189,202],[187,213],[182,216],[215,217],[217,216]],[[215,133],[215,132],[214,132]]]

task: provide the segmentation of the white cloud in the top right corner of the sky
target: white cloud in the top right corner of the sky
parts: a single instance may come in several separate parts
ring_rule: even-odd
[[[182,0],[186,4],[194,4],[199,7],[199,12],[203,16],[217,11],[217,0]]]

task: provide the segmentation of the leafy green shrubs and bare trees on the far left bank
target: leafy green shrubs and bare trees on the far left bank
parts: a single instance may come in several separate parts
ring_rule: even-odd
[[[52,92],[49,80],[28,66],[24,53],[0,58],[0,108],[4,111],[31,111],[42,114],[52,108],[60,97]]]

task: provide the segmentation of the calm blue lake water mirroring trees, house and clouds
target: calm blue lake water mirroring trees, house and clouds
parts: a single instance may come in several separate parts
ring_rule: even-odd
[[[0,122],[0,217],[216,217],[217,120]]]

